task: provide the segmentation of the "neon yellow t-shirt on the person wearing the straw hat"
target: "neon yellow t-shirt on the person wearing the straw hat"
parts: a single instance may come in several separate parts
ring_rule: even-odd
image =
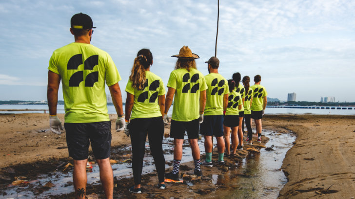
[[[200,91],[206,90],[206,80],[196,69],[177,69],[170,73],[167,87],[176,89],[171,119],[189,122],[199,117]]]

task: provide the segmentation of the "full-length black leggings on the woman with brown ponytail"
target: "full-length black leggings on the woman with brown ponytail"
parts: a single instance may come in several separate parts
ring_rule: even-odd
[[[132,170],[135,184],[140,184],[145,152],[145,141],[148,140],[151,154],[158,172],[159,182],[164,181],[165,158],[163,154],[163,118],[136,118],[128,125],[132,143]]]

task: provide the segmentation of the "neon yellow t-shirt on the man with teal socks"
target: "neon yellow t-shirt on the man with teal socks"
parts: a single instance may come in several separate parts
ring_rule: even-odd
[[[219,73],[210,73],[205,78],[208,89],[204,115],[223,115],[223,97],[229,93],[228,82]]]

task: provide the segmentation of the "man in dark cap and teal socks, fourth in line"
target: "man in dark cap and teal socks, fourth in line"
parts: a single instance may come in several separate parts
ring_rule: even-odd
[[[218,163],[224,164],[223,111],[227,108],[229,88],[227,80],[218,73],[218,58],[213,56],[205,63],[208,63],[209,74],[205,76],[207,100],[204,119],[200,125],[200,134],[205,137],[206,151],[206,160],[202,164],[212,167],[213,136],[217,139]]]

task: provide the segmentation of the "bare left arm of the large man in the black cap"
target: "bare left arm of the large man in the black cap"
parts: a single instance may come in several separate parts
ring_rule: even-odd
[[[59,84],[60,75],[52,71],[48,71],[47,101],[49,115],[57,115]]]

